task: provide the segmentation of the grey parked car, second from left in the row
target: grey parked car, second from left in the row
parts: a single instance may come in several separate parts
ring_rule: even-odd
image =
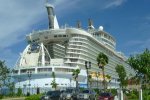
[[[78,91],[74,88],[66,89],[60,96],[60,100],[76,100]]]

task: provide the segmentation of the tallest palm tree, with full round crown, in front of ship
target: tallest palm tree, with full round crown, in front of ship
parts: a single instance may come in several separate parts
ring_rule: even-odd
[[[104,66],[108,64],[108,57],[104,53],[100,52],[97,56],[97,62],[99,68],[102,69],[103,72],[103,86],[104,86],[104,91],[106,90],[106,80],[105,80],[105,72],[104,72]]]

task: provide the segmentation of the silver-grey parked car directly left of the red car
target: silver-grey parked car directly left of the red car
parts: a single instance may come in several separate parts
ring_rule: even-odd
[[[78,100],[97,100],[96,93],[91,89],[86,89],[77,95]]]

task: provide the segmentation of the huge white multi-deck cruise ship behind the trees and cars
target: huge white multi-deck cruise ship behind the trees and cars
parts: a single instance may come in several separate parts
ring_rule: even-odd
[[[82,29],[81,23],[76,27],[59,27],[53,5],[46,3],[49,28],[32,31],[26,36],[28,45],[18,58],[13,78],[16,88],[24,93],[30,91],[45,92],[52,89],[52,72],[55,73],[59,89],[75,87],[74,69],[80,69],[79,86],[87,87],[87,71],[85,62],[91,62],[89,74],[92,75],[93,88],[102,88],[102,70],[97,65],[100,52],[106,54],[109,63],[105,66],[105,75],[111,76],[109,88],[118,88],[118,75],[115,71],[117,64],[122,64],[127,76],[134,71],[126,63],[123,53],[116,51],[116,40],[100,26],[96,29],[91,19],[88,29]],[[108,81],[108,79],[106,78]]]

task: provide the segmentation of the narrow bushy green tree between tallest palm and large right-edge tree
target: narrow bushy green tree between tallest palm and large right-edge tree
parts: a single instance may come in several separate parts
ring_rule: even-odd
[[[124,86],[127,86],[126,71],[123,65],[117,65],[115,69],[119,76],[120,87],[123,88]]]

